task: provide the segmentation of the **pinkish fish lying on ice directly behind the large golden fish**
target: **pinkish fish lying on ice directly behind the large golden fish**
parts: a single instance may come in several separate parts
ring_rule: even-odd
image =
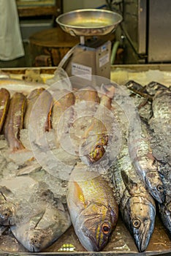
[[[84,141],[80,146],[80,159],[86,165],[92,165],[102,159],[113,130],[110,114],[115,87],[112,84],[102,84],[99,93],[101,93],[99,105],[92,116],[91,124],[85,130]]]

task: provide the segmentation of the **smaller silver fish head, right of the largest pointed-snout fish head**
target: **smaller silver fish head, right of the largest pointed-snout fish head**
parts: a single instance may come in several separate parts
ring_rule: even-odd
[[[164,185],[161,181],[159,173],[150,171],[146,173],[145,184],[147,184],[148,190],[151,193],[152,197],[159,203],[163,203],[165,198],[165,192]]]

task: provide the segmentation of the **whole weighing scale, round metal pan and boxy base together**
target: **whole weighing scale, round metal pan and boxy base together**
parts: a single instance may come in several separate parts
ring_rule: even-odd
[[[80,37],[80,44],[66,53],[58,67],[63,67],[69,76],[82,76],[82,85],[87,85],[92,75],[110,78],[111,42],[106,41],[105,36],[113,33],[121,20],[122,16],[116,12],[98,9],[59,15],[56,19],[58,25],[66,33]]]

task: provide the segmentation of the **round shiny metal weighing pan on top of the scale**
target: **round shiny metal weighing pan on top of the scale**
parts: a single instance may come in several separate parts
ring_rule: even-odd
[[[82,9],[66,12],[56,22],[72,36],[102,36],[115,31],[122,16],[116,12]]]

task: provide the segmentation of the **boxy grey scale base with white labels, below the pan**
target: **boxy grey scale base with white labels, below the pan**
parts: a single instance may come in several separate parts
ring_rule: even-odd
[[[111,42],[89,40],[85,45],[77,45],[72,56],[67,59],[64,69],[70,76],[79,76],[74,86],[100,86],[96,76],[110,79]],[[92,76],[93,75],[93,76]]]

